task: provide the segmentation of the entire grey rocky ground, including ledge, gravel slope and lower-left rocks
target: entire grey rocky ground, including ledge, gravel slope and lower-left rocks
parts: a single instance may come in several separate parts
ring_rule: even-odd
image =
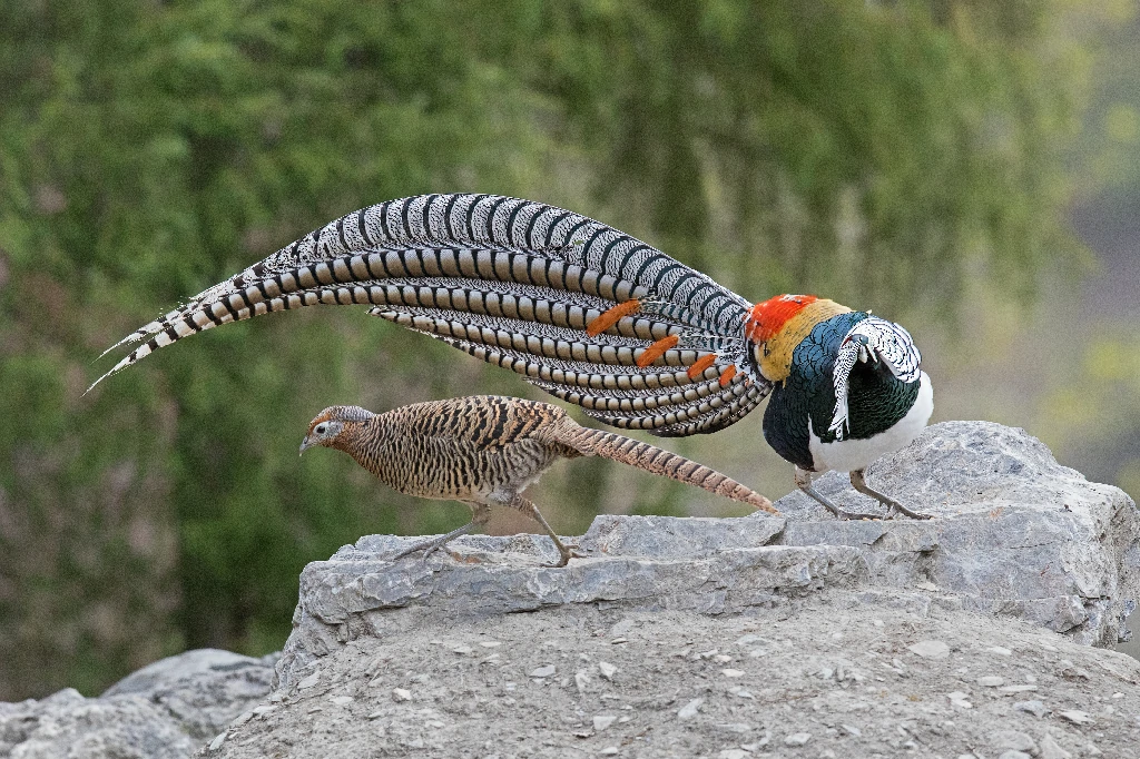
[[[166,752],[115,756],[1140,756],[1140,664],[1105,650],[1140,598],[1133,501],[977,422],[869,480],[938,519],[838,522],[799,493],[782,517],[603,515],[561,569],[538,536],[398,563],[405,539],[369,536],[306,568],[271,695],[184,707],[142,670],[0,704],[0,756],[67,756],[35,746],[90,742],[73,710],[142,708],[121,732]]]

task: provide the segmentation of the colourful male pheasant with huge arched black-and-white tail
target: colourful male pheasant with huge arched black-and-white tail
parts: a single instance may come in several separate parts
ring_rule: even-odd
[[[219,324],[319,303],[368,305],[658,435],[723,430],[777,387],[765,435],[805,492],[847,516],[808,474],[847,470],[888,514],[909,513],[862,475],[930,413],[902,327],[806,296],[752,305],[621,231],[519,198],[418,195],[342,217],[128,335],[117,345],[146,342],[104,377]]]

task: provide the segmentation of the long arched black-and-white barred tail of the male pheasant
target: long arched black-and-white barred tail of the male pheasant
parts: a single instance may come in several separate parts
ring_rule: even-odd
[[[743,297],[603,223],[495,195],[342,217],[128,335],[115,346],[145,342],[96,384],[217,325],[321,303],[368,305],[621,427],[711,432],[768,391],[748,368]]]

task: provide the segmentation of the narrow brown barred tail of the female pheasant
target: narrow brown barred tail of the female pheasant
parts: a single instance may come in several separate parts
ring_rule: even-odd
[[[567,422],[570,422],[569,418]],[[756,508],[780,514],[772,501],[751,488],[740,484],[716,470],[698,464],[684,456],[669,452],[657,446],[643,443],[633,438],[626,438],[604,430],[594,430],[573,424],[572,429],[562,427],[561,442],[570,446],[584,456],[601,456],[621,464],[636,466],[652,474],[659,474],[678,482],[695,485],[709,492],[749,504]]]

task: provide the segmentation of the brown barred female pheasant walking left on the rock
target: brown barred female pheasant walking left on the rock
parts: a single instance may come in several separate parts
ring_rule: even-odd
[[[553,566],[564,566],[575,554],[538,507],[520,495],[559,458],[602,456],[779,513],[764,496],[707,466],[630,438],[584,427],[557,406],[519,398],[471,395],[401,406],[385,414],[332,406],[309,425],[302,452],[311,446],[344,451],[399,492],[459,500],[471,507],[467,524],[417,542],[393,558],[421,549],[426,549],[426,556],[484,524],[490,505],[500,505],[542,524],[561,555]]]

